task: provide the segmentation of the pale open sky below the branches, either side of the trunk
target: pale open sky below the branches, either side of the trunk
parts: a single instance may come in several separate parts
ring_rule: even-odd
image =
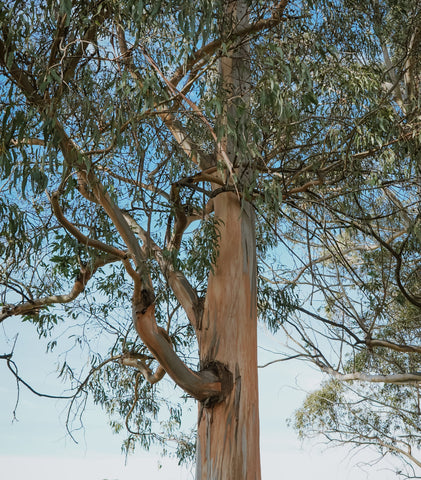
[[[32,380],[39,391],[60,393],[54,370],[54,355],[45,354],[30,325],[8,319],[0,325],[0,354],[9,353],[19,331],[14,359],[22,378]],[[261,343],[276,342],[265,331]],[[259,351],[260,363],[273,359]],[[376,458],[373,452],[357,455],[344,448],[327,448],[318,441],[302,443],[286,425],[304,399],[317,388],[322,376],[297,361],[259,369],[262,478],[294,480],[392,480],[394,465],[382,461],[374,466],[361,463]],[[170,380],[168,380],[170,381]],[[17,419],[16,382],[6,362],[0,361],[0,479],[7,480],[193,480],[192,468],[180,468],[174,459],[158,452],[137,449],[127,459],[120,453],[123,437],[111,432],[106,415],[88,404],[84,429],[75,433],[78,444],[66,434],[66,403],[39,398],[24,387],[19,394]]]

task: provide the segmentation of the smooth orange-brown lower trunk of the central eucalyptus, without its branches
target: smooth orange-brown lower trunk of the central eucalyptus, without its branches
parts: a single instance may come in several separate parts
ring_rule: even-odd
[[[260,480],[256,240],[252,207],[232,192],[215,198],[219,256],[198,331],[201,367],[223,364],[233,388],[199,406],[197,480]]]

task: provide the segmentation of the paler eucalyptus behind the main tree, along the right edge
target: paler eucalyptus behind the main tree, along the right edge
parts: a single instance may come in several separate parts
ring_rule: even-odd
[[[344,133],[350,139],[339,148],[347,145],[358,178],[309,199],[302,216],[309,255],[290,270],[294,283],[310,285],[319,309],[298,305],[300,318],[283,328],[291,337],[292,328],[300,331],[294,347],[330,376],[293,425],[301,436],[375,446],[400,457],[399,474],[419,478],[421,11],[399,1],[325,7],[319,28],[370,74],[351,81],[364,90],[351,102],[361,108],[358,122],[332,132],[335,142]]]

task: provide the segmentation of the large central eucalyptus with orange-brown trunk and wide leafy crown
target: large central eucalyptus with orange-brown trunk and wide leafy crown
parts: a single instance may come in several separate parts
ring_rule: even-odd
[[[91,393],[127,448],[183,457],[167,374],[198,402],[197,478],[256,479],[258,317],[340,380],[420,381],[369,360],[419,349],[391,326],[420,307],[416,1],[16,0],[0,22],[0,322],[57,351],[83,321],[72,408]]]

